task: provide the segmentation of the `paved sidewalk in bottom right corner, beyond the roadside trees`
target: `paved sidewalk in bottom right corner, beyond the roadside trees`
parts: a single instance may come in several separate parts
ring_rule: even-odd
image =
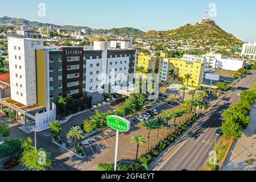
[[[256,104],[251,107],[251,125],[234,142],[222,171],[256,171]],[[250,164],[249,164],[250,163]]]

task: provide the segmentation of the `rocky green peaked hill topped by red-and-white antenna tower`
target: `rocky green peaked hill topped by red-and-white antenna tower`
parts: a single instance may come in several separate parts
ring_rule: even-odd
[[[164,38],[168,39],[192,39],[198,40],[200,44],[217,45],[217,46],[234,46],[241,45],[243,42],[232,34],[225,32],[213,20],[205,20],[205,22],[196,24],[186,24],[175,30],[161,32]]]

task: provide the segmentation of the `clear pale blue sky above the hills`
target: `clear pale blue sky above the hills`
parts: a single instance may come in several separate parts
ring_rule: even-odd
[[[40,3],[46,9],[38,7]],[[212,19],[222,29],[256,42],[255,0],[0,0],[0,17],[90,28],[170,30],[203,19],[205,7],[216,10]]]

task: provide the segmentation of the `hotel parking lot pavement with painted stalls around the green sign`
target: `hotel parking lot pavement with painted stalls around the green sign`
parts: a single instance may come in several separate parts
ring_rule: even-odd
[[[175,103],[176,104],[176,103]],[[176,104],[177,105],[177,104]],[[163,110],[172,109],[172,106],[166,102],[162,102],[152,106],[150,109],[156,109],[158,113]],[[118,146],[118,162],[121,163],[134,163],[137,153],[137,144],[130,143],[130,138],[135,136],[136,133],[143,134],[147,137],[147,130],[139,127],[140,123],[135,117],[129,118],[131,122],[130,131],[119,133],[119,146]],[[102,131],[100,134],[82,141],[82,147],[86,153],[86,158],[97,159],[101,163],[113,163],[115,151],[115,138],[116,131],[108,129]],[[164,130],[159,131],[159,140],[164,139]],[[151,131],[150,146],[155,146],[156,131]],[[138,158],[146,153],[146,145],[139,146]],[[101,154],[101,155],[99,155]]]

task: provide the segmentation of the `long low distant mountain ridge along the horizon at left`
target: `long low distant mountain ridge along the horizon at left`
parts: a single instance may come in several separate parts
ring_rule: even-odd
[[[40,23],[40,22],[31,22],[29,20],[23,19],[23,18],[10,18],[8,16],[3,16],[0,18],[0,25],[2,26],[21,26],[23,24],[27,24],[31,28],[39,28],[42,26],[49,26],[49,23]],[[143,36],[145,33],[141,30],[135,29],[135,28],[112,28],[110,30],[103,30],[103,29],[92,29],[86,26],[59,26],[56,24],[53,24],[55,28],[65,28],[66,30],[81,30],[82,28],[85,28],[87,32],[98,32],[98,33],[104,33],[104,34],[113,34],[113,35],[127,35],[127,36]]]

